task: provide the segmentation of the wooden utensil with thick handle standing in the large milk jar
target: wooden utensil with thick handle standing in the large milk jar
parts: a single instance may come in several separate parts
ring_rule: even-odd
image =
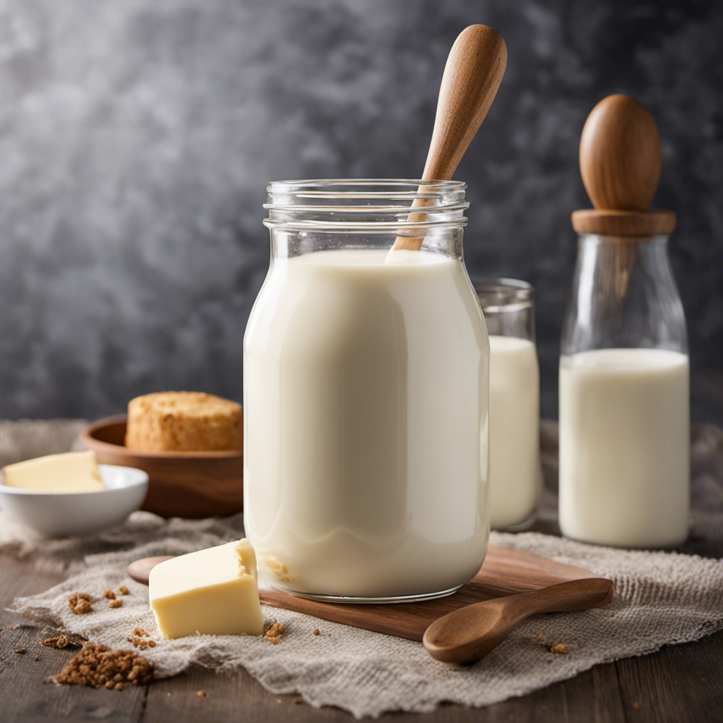
[[[470,25],[455,40],[442,75],[437,116],[422,179],[450,180],[484,116],[495,100],[507,65],[507,46],[487,25]],[[423,190],[420,188],[420,190]],[[415,199],[412,208],[429,205]],[[408,223],[422,223],[426,213],[412,213]],[[419,251],[423,237],[398,236],[393,251]]]

